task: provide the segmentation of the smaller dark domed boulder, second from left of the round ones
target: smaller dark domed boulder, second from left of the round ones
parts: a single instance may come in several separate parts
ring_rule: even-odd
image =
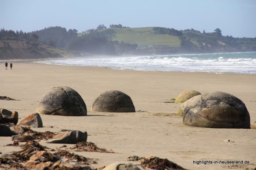
[[[127,94],[118,90],[109,90],[94,100],[91,110],[94,112],[135,112],[135,107]]]

